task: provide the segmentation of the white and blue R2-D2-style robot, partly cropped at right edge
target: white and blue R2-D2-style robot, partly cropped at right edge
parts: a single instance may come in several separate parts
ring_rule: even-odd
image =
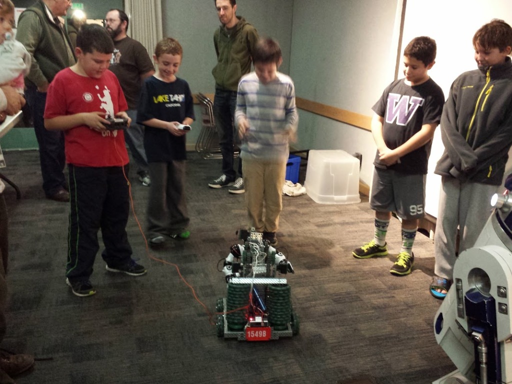
[[[437,343],[457,370],[433,384],[512,383],[512,195],[496,194],[491,205],[475,246],[460,253],[434,318]]]

